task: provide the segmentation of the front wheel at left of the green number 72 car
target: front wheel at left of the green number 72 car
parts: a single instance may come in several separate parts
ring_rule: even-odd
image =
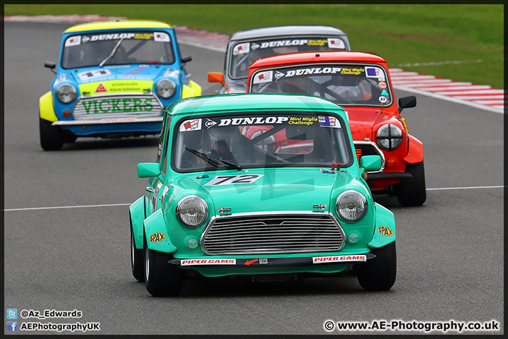
[[[168,264],[171,254],[148,249],[144,240],[145,286],[154,297],[179,295],[183,287],[183,270]]]

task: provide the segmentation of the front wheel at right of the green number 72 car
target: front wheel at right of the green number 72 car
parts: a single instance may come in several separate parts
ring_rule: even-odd
[[[375,258],[353,266],[358,283],[367,291],[387,291],[397,277],[397,251],[395,242],[373,249]]]

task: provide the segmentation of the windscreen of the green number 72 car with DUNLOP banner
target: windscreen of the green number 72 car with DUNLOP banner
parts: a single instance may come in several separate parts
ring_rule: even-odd
[[[351,165],[349,136],[338,116],[238,112],[181,119],[171,165],[176,172],[260,167]]]

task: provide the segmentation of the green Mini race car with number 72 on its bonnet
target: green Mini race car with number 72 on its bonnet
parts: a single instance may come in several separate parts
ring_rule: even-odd
[[[253,281],[356,275],[395,282],[394,215],[373,201],[346,113],[308,95],[193,97],[164,109],[157,158],[129,208],[134,278],[153,296],[200,276]]]

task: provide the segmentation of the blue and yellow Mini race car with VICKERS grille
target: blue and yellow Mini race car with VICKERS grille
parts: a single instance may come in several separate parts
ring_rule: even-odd
[[[185,70],[174,29],[152,20],[74,25],[63,32],[56,76],[40,97],[40,144],[59,150],[78,137],[159,134],[163,109],[201,95]],[[55,71],[57,69],[57,71]]]

